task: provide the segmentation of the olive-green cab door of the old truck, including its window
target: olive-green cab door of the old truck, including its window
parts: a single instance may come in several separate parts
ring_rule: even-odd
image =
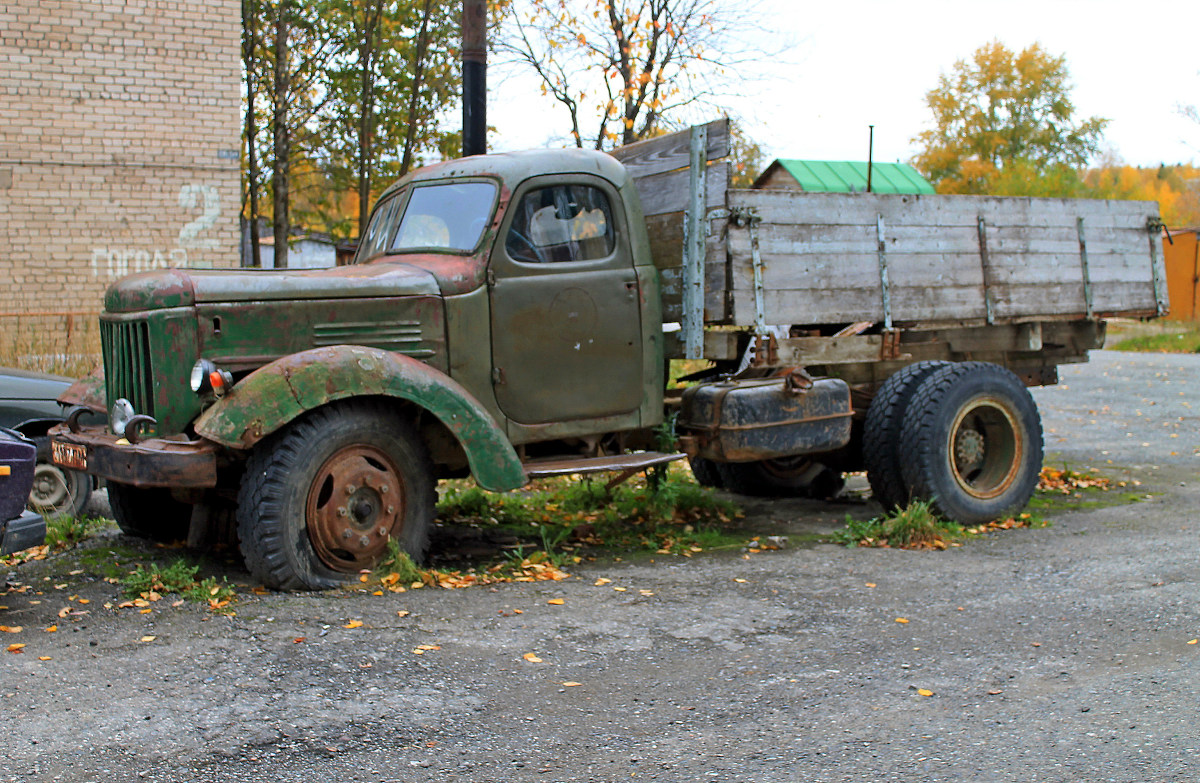
[[[496,400],[520,424],[616,416],[642,402],[637,275],[616,190],[534,179],[491,256]]]

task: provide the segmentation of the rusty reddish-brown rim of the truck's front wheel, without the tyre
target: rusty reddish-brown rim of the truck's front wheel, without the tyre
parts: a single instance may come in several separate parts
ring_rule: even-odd
[[[308,540],[329,568],[372,568],[404,526],[404,484],[395,461],[373,446],[335,452],[317,470],[305,503]]]

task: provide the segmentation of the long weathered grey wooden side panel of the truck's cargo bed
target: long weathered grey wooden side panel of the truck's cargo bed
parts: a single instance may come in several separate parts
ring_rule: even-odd
[[[895,323],[983,321],[989,299],[997,321],[1084,315],[1080,217],[1093,311],[1156,310],[1153,202],[791,191],[730,191],[728,202],[761,217],[768,323],[883,321],[881,216]],[[746,325],[755,316],[750,232],[728,231],[732,322]]]

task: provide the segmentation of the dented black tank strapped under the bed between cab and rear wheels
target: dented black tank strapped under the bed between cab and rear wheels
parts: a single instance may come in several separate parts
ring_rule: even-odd
[[[788,376],[691,387],[677,426],[691,456],[752,462],[841,448],[852,414],[845,381]]]

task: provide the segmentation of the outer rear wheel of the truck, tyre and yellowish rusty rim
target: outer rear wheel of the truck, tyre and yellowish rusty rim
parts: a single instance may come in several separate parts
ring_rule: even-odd
[[[913,393],[900,434],[912,496],[964,525],[1025,507],[1042,470],[1042,419],[1020,378],[983,361],[953,364]]]

